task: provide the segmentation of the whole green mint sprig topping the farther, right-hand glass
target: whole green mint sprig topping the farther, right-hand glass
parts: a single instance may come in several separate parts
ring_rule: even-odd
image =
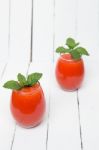
[[[56,49],[57,53],[70,53],[73,59],[80,59],[82,55],[89,56],[87,50],[83,47],[78,47],[79,43],[76,42],[73,38],[67,38],[66,44],[67,48],[65,47],[58,47]]]

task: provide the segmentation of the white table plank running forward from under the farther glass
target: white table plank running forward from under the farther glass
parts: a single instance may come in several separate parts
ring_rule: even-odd
[[[51,76],[48,150],[80,150],[77,93],[61,90]]]

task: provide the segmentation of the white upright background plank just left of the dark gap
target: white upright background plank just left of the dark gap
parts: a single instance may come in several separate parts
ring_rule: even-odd
[[[29,61],[31,0],[11,0],[9,59]]]

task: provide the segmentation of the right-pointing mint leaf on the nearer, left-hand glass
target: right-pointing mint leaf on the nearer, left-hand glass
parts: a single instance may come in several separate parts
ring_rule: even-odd
[[[29,86],[35,85],[40,78],[42,77],[42,73],[32,73],[28,75],[27,83]]]

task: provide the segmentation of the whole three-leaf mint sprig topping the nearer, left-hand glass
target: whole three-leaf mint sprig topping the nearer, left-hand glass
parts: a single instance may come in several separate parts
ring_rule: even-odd
[[[11,90],[20,90],[23,87],[34,86],[42,77],[42,73],[32,73],[27,76],[27,78],[19,73],[17,75],[18,81],[10,80],[7,81],[3,87]]]

